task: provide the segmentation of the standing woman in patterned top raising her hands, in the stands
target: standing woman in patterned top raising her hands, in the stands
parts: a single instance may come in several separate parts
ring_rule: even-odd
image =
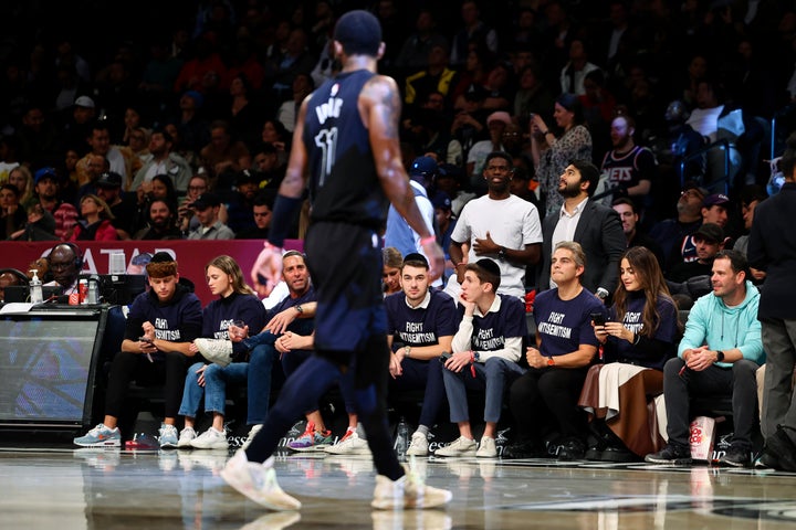
[[[531,156],[536,169],[544,210],[542,219],[551,213],[557,215],[564,198],[558,193],[558,182],[564,169],[573,160],[591,160],[591,134],[586,127],[583,105],[575,94],[562,94],[553,110],[561,136],[551,130],[542,116],[531,116]]]

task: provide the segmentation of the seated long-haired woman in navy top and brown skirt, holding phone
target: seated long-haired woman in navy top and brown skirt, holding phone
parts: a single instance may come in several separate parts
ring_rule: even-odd
[[[587,459],[631,462],[663,445],[650,398],[663,392],[663,364],[677,353],[677,307],[646,247],[625,252],[619,277],[608,321],[594,321],[605,364],[589,369],[578,402],[597,436]]]

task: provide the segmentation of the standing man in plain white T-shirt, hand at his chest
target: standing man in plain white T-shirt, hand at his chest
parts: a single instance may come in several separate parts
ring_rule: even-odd
[[[484,160],[489,191],[468,202],[451,234],[450,257],[461,284],[468,263],[489,257],[501,269],[499,294],[525,297],[525,271],[540,261],[542,226],[536,206],[512,195],[512,157],[493,151]],[[464,245],[470,251],[464,255]]]

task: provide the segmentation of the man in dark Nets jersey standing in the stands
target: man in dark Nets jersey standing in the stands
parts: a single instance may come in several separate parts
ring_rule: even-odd
[[[603,158],[601,170],[608,173],[614,199],[629,197],[637,206],[646,208],[657,162],[651,150],[636,145],[635,132],[636,121],[630,116],[614,118],[610,128],[614,149]]]

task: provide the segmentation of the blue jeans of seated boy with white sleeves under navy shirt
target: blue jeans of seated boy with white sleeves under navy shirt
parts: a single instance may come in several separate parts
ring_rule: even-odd
[[[505,388],[524,373],[520,364],[502,357],[490,357],[484,362],[473,363],[475,377],[472,377],[470,367],[461,372],[442,369],[448,404],[451,411],[451,422],[470,421],[467,403],[467,388],[485,390],[484,422],[498,423],[503,407]]]

